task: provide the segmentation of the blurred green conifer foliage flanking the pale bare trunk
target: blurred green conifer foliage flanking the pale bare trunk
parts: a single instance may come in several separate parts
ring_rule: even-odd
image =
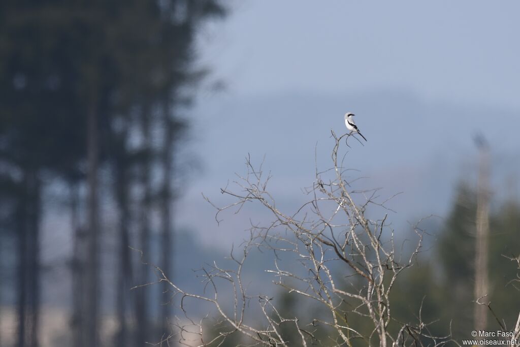
[[[400,319],[418,315],[424,297],[422,317],[424,322],[436,321],[430,327],[434,334],[448,335],[451,329],[454,339],[469,338],[476,305],[475,216],[476,193],[461,184],[431,256],[410,269],[394,288],[394,312]],[[496,316],[509,328],[514,326],[518,316],[520,295],[511,283],[516,277],[517,265],[504,255],[520,254],[519,226],[517,202],[499,203],[490,216],[488,298]],[[502,329],[491,311],[488,312],[488,329]]]

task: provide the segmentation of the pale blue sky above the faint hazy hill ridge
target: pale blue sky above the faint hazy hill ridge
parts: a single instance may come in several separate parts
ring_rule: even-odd
[[[230,4],[201,53],[235,95],[399,87],[520,106],[518,2]]]

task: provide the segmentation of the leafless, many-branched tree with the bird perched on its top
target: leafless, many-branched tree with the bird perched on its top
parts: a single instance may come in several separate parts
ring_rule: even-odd
[[[449,340],[432,336],[421,312],[414,323],[393,317],[390,293],[402,271],[414,265],[425,232],[413,227],[409,231],[414,246],[396,250],[387,213],[380,219],[368,216],[372,207],[385,211],[388,199],[380,201],[379,189],[354,188],[355,179],[347,179],[346,155],[339,155],[350,135],[337,137],[332,132],[332,136],[333,167],[316,170],[313,186],[305,189],[309,201],[290,214],[281,211],[268,192],[270,175],[262,165],[255,169],[246,159],[248,171],[235,182],[238,189],[222,189],[235,201],[223,208],[214,205],[216,220],[224,210],[239,212],[251,202],[262,205],[273,219],[267,225],[251,226],[240,255],[231,251],[232,268],[214,263],[199,270],[203,293],[179,288],[156,267],[159,282],[170,286],[184,314],[176,317],[171,335],[162,342],[219,346],[232,335],[239,336],[240,345],[265,346],[436,346]],[[302,300],[299,306],[304,310],[296,315],[283,312],[276,298],[255,293],[249,289],[254,286],[244,284],[246,259],[253,249],[272,252],[274,262],[266,271],[283,291]],[[213,313],[193,318],[191,300],[209,304]]]

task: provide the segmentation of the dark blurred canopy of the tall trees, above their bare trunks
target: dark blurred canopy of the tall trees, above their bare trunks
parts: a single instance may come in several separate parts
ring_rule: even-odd
[[[224,14],[213,0],[1,6],[0,159],[66,175],[84,160],[89,107],[107,137],[132,107],[179,94],[198,25]]]

